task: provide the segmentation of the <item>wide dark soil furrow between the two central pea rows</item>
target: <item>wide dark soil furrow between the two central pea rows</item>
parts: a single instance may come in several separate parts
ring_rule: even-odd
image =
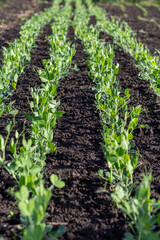
[[[65,114],[58,120],[54,139],[57,154],[48,156],[46,178],[60,174],[66,187],[54,192],[47,221],[65,223],[65,240],[121,239],[126,229],[122,215],[113,207],[95,174],[104,168],[99,114],[94,104],[94,84],[88,77],[86,54],[80,41],[74,41],[73,28],[68,36],[76,44],[74,60],[79,71],[71,72],[60,81],[58,98]],[[48,181],[49,184],[49,181]],[[61,195],[61,196],[59,196]]]

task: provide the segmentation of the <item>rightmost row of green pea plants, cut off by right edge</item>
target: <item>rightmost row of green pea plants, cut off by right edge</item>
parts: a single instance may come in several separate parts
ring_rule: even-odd
[[[96,16],[97,27],[111,35],[114,42],[124,51],[128,52],[135,60],[136,66],[140,70],[139,77],[149,80],[151,88],[160,97],[160,61],[159,56],[151,56],[146,45],[139,42],[128,23],[119,22],[113,17],[109,20],[106,12],[100,7],[91,7],[91,1],[86,0],[89,10]]]

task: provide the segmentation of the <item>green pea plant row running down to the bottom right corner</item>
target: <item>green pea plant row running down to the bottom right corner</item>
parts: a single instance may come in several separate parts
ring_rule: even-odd
[[[89,6],[92,7],[91,5]],[[95,82],[96,104],[103,125],[103,150],[109,171],[99,171],[105,183],[105,190],[112,200],[129,219],[132,233],[125,233],[124,240],[151,240],[160,238],[160,232],[154,232],[160,224],[160,201],[150,198],[151,174],[136,187],[133,172],[138,166],[138,152],[134,150],[132,132],[138,124],[141,106],[128,109],[129,90],[124,96],[116,79],[119,67],[113,63],[114,47],[105,46],[99,39],[99,27],[88,26],[91,9],[86,10],[81,0],[76,1],[73,26],[75,36],[84,44],[88,54],[89,75]],[[107,185],[112,191],[107,190]],[[132,197],[132,195],[134,195]]]

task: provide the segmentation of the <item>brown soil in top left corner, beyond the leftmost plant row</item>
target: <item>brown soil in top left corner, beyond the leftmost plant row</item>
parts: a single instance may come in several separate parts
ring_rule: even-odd
[[[2,24],[0,21],[0,66],[3,60],[2,47],[9,47],[7,42],[13,42],[20,37],[19,31],[24,22],[21,18],[25,17],[27,20],[35,13],[51,6],[51,3],[40,3],[35,0],[6,1],[5,4],[8,4],[8,7],[0,8],[0,17],[5,20]]]

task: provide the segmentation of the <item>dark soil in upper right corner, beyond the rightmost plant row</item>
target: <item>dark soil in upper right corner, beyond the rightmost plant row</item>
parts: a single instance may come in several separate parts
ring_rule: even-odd
[[[136,6],[126,6],[126,12],[128,17],[124,17],[119,6],[113,6],[111,4],[100,4],[106,10],[109,16],[114,16],[116,19],[119,17],[121,20],[128,22],[129,26],[135,31],[136,36],[140,41],[147,45],[151,54],[155,52],[156,49],[160,49],[160,29],[153,22],[141,21],[138,16],[144,17],[142,10]],[[149,19],[156,13],[156,16],[160,14],[159,10],[155,7],[148,7],[149,9]],[[156,9],[156,10],[155,10]],[[157,18],[155,18],[157,20]]]

